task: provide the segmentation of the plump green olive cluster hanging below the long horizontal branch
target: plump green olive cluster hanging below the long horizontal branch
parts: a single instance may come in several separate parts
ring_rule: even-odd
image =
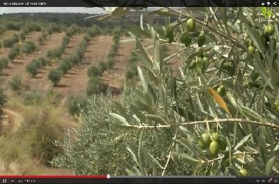
[[[199,147],[202,149],[209,148],[211,156],[215,157],[221,151],[225,151],[227,144],[223,136],[216,132],[204,133],[199,137]]]

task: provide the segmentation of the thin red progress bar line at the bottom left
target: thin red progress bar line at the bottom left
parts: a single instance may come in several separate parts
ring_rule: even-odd
[[[36,175],[27,175],[27,176],[3,176],[0,175],[0,178],[107,178],[107,175],[87,175],[87,176],[73,176],[73,175],[69,175],[69,176],[36,176]]]

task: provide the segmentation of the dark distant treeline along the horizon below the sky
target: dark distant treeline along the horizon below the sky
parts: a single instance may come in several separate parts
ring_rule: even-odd
[[[89,13],[3,13],[3,15],[0,15],[0,19],[7,20],[7,21],[13,21],[13,20],[22,20],[22,21],[32,21],[32,22],[57,22],[58,24],[77,24],[78,26],[92,26],[92,24],[96,24],[100,27],[114,27],[115,24],[118,24],[114,22],[100,22],[96,19],[86,19],[85,17],[92,16],[92,14]]]

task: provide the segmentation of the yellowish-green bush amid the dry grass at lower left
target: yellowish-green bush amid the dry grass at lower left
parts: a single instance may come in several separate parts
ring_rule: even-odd
[[[50,164],[50,160],[61,153],[61,148],[53,144],[63,135],[61,114],[57,110],[52,106],[41,107],[36,104],[24,107],[22,110],[24,124],[19,133],[21,142],[26,144],[25,149],[33,158],[37,158],[46,166]]]

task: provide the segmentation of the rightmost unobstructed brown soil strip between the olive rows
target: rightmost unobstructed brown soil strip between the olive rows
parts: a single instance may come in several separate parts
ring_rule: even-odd
[[[135,43],[121,42],[129,38],[121,38],[118,54],[115,57],[115,64],[110,70],[106,70],[101,79],[102,81],[109,85],[112,91],[119,93],[123,88],[123,82],[126,78],[126,71],[128,68],[128,61],[130,59],[131,53],[134,49]]]

